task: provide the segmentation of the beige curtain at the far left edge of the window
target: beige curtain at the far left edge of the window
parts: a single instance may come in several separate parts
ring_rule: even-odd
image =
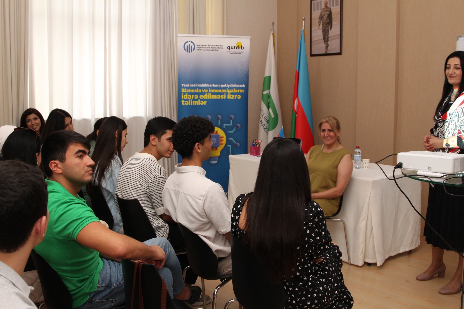
[[[28,3],[0,2],[0,126],[19,125],[27,108]]]

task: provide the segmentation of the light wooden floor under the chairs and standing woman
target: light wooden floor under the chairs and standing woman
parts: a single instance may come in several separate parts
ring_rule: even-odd
[[[423,226],[422,226],[423,230]],[[354,298],[356,309],[458,309],[460,294],[441,295],[438,290],[451,280],[458,265],[458,255],[445,251],[446,273],[444,278],[433,277],[430,281],[417,281],[416,276],[423,272],[430,264],[431,246],[425,244],[424,237],[421,245],[411,253],[400,253],[388,258],[379,267],[355,266],[343,263],[345,284]],[[213,295],[218,281],[205,280],[206,294]],[[201,280],[197,285],[201,287]],[[217,309],[224,308],[226,302],[234,298],[232,282],[218,292]],[[200,307],[197,307],[200,308]],[[207,305],[210,309],[211,305]],[[229,308],[237,309],[238,304],[232,303]]]

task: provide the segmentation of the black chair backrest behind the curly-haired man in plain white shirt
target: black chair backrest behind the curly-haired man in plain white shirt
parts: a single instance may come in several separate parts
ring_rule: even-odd
[[[218,279],[218,258],[211,248],[184,225],[179,223],[180,233],[184,238],[188,262],[193,272],[206,280]]]

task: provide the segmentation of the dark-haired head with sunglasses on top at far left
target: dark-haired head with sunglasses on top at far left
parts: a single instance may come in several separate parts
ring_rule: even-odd
[[[42,138],[37,131],[30,128],[15,128],[3,143],[0,158],[3,161],[19,160],[39,166],[41,146]]]

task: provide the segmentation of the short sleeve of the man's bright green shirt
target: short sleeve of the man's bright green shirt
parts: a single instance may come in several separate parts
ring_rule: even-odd
[[[58,235],[66,239],[76,240],[77,234],[84,228],[94,221],[100,221],[92,209],[80,203],[79,200],[64,200],[59,206],[59,211],[55,212],[54,230],[58,232]]]

